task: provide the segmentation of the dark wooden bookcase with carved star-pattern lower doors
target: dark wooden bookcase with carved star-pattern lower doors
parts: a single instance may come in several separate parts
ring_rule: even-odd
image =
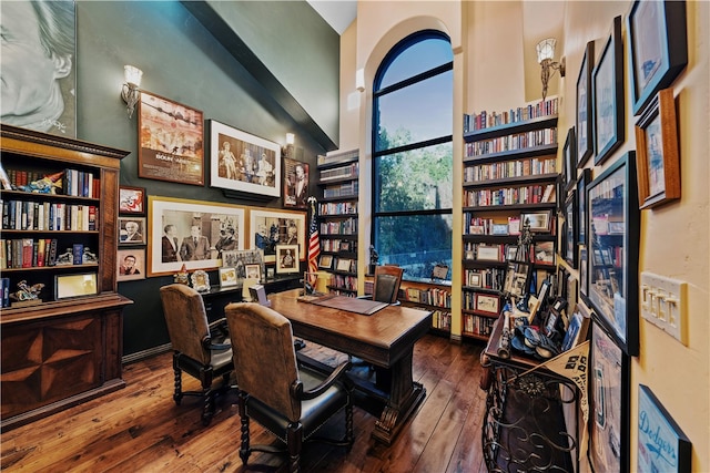
[[[2,186],[8,292],[21,281],[43,285],[38,299],[14,301],[0,316],[4,431],[123,388],[122,311],[132,301],[116,292],[119,172],[129,153],[9,125],[1,136],[10,181],[62,178],[57,194]],[[83,186],[68,192],[67,176]],[[84,216],[91,207],[93,224]],[[24,253],[12,240],[26,241]],[[45,251],[55,248],[53,259],[40,258],[40,240],[50,241]],[[67,248],[72,258],[62,258]]]

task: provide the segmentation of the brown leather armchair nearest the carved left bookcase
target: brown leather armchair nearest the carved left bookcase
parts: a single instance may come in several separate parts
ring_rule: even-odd
[[[193,288],[173,284],[160,288],[168,333],[173,347],[173,371],[175,391],[173,400],[180,405],[183,395],[204,398],[202,423],[209,425],[214,415],[214,399],[230,387],[234,370],[226,320],[207,323],[207,315],[200,292]],[[212,332],[220,331],[215,343]],[[202,391],[182,390],[182,372],[200,380]],[[222,385],[212,389],[215,378],[222,377]]]

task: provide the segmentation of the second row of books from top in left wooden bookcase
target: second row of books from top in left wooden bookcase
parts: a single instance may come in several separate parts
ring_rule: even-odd
[[[6,230],[97,230],[95,205],[3,200],[2,229]]]

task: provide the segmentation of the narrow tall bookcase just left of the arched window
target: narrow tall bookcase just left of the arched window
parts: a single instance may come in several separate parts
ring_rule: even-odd
[[[358,151],[318,156],[320,270],[331,274],[328,290],[357,296]]]

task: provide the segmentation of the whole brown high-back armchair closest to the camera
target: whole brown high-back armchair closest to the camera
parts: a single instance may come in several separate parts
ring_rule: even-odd
[[[288,319],[254,302],[230,304],[224,310],[232,333],[239,380],[242,462],[246,464],[253,451],[287,453],[288,470],[297,472],[301,448],[307,440],[349,449],[353,443],[353,404],[352,387],[345,373],[349,362],[341,363],[327,377],[298,367]],[[316,438],[317,429],[341,411],[345,411],[345,438]],[[252,419],[276,435],[286,448],[251,445]]]

